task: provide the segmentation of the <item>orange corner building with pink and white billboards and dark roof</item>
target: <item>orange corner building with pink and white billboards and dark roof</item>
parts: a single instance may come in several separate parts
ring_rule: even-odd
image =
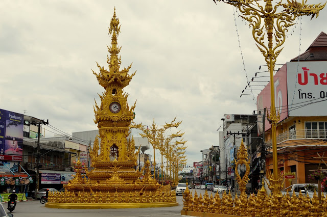
[[[274,87],[281,115],[276,127],[278,168],[295,172],[285,187],[314,182],[308,175],[327,169],[327,34],[321,32],[304,53],[278,69]],[[258,111],[263,114],[266,107],[270,113],[270,83],[258,95]],[[271,124],[266,120],[258,125],[261,133],[265,126],[266,169],[272,171]]]

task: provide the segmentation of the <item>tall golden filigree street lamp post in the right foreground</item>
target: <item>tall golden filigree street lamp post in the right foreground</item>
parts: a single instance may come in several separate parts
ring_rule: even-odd
[[[220,0],[214,0],[214,2],[220,2]],[[319,11],[324,8],[324,5],[306,5],[306,2],[298,3],[296,1],[287,0],[286,4],[282,4],[279,1],[274,6],[271,0],[264,0],[265,6],[260,5],[260,0],[227,0],[225,3],[235,6],[242,15],[243,19],[249,22],[252,28],[252,36],[256,42],[262,55],[265,57],[269,73],[270,73],[270,96],[271,107],[270,115],[267,115],[267,119],[271,123],[272,131],[272,158],[273,158],[273,177],[270,176],[270,184],[274,195],[279,195],[282,188],[280,183],[281,177],[277,172],[277,145],[276,145],[276,124],[279,120],[279,113],[276,114],[275,109],[275,97],[274,97],[274,80],[273,72],[276,63],[276,59],[279,53],[282,51],[281,47],[286,39],[286,32],[288,28],[294,25],[294,20],[303,15],[311,15],[317,17]],[[217,3],[216,3],[217,4]],[[284,10],[277,12],[279,7],[283,7]],[[311,18],[311,19],[312,19]],[[264,22],[262,22],[262,20]],[[268,46],[265,44],[265,37],[267,35]],[[273,43],[274,39],[274,43]]]

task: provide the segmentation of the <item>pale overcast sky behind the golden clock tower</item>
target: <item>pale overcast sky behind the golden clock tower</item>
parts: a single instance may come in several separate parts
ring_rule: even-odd
[[[249,26],[238,16],[236,25],[233,7],[224,3],[1,1],[0,108],[49,119],[68,134],[97,129],[92,106],[94,99],[100,103],[98,93],[104,89],[91,69],[99,72],[96,61],[108,67],[114,7],[122,25],[121,67],[133,62],[130,72],[137,70],[125,88],[130,105],[137,99],[135,122],[150,125],[155,118],[163,125],[177,116],[188,141],[188,164],[202,160],[201,149],[219,145],[217,129],[224,114],[256,110],[253,96],[240,95],[246,73],[251,79],[265,65]],[[277,64],[296,57],[299,48],[304,52],[320,32],[327,32],[327,9],[310,18],[290,28]],[[58,133],[46,129],[53,131],[45,131],[46,137]]]

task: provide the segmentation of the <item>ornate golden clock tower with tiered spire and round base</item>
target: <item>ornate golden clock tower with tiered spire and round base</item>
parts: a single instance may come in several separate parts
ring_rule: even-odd
[[[130,124],[134,119],[135,104],[130,108],[128,94],[123,89],[129,85],[131,65],[120,69],[117,36],[121,26],[115,11],[109,26],[111,46],[107,58],[109,70],[100,66],[100,73],[93,72],[99,84],[105,89],[101,105],[94,107],[95,123],[98,124],[98,136],[90,149],[91,168],[85,166],[86,176],[81,174],[81,162],[76,162],[77,173],[68,184],[65,192],[49,194],[46,207],[51,208],[138,208],[177,206],[175,192],[171,187],[157,183],[151,175],[149,160],[142,171],[138,171],[134,140],[127,141]],[[100,150],[100,153],[99,153]],[[141,179],[141,175],[144,175]]]

